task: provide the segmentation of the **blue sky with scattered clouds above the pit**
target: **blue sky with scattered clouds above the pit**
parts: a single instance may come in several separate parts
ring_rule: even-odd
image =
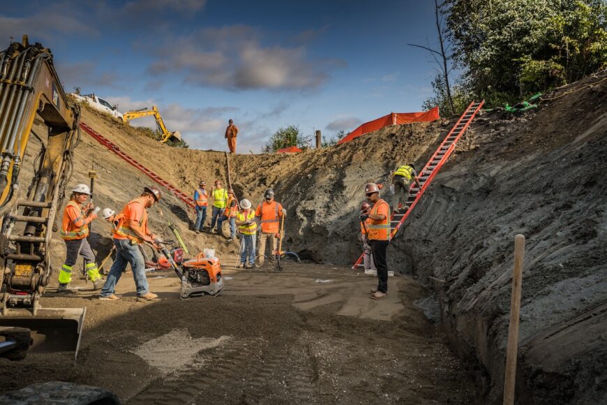
[[[50,47],[66,91],[158,108],[191,147],[259,152],[282,126],[352,131],[430,96],[433,1],[11,1],[0,40]],[[428,42],[426,42],[428,41]],[[153,126],[146,119],[134,125]]]

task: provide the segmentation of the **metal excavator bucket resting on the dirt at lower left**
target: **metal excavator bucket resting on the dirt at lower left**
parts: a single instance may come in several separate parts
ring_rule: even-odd
[[[0,327],[30,330],[33,344],[28,353],[74,352],[77,358],[86,308],[38,308],[36,316],[9,310],[0,315]]]

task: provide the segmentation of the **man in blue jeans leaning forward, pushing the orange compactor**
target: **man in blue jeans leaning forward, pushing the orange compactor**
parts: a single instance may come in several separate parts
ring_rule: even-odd
[[[142,195],[128,202],[119,214],[118,226],[113,231],[116,259],[101,290],[100,300],[119,300],[119,297],[114,295],[114,288],[127,264],[130,264],[133,270],[137,297],[144,300],[158,298],[158,295],[149,291],[145,262],[138,245],[147,242],[160,249],[160,240],[147,226],[147,208],[156,204],[162,195],[156,187],[144,187],[143,190]]]

